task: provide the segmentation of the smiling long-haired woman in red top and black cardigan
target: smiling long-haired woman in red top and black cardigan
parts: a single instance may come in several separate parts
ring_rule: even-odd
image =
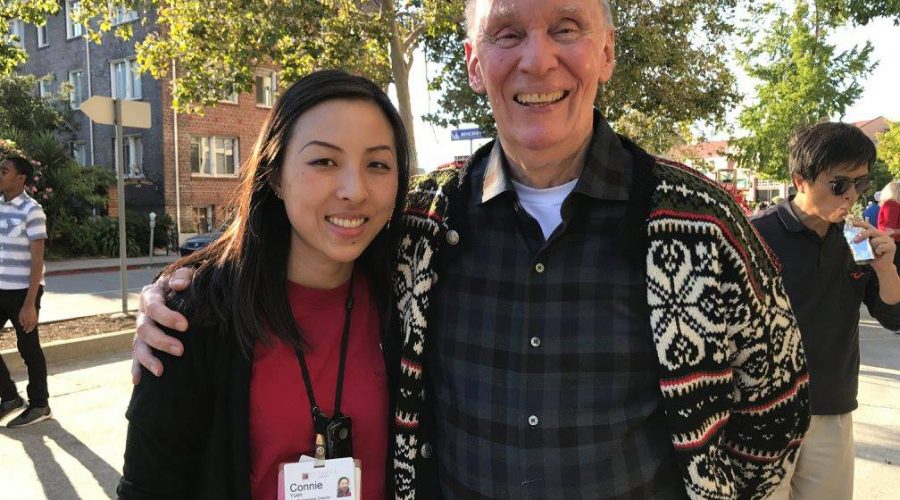
[[[279,464],[313,456],[337,414],[352,421],[363,498],[385,498],[381,344],[408,154],[364,78],[321,71],[279,98],[234,222],[170,268],[198,269],[170,299],[191,327],[170,332],[184,356],[160,353],[165,374],[134,389],[121,498],[277,498]]]

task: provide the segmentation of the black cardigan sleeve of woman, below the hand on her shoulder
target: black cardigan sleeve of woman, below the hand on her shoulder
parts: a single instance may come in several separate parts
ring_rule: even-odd
[[[205,353],[199,329],[167,332],[184,343],[184,354],[156,352],[165,366],[161,377],[143,369],[126,411],[128,435],[119,482],[122,499],[190,499],[202,480],[201,461],[210,429],[210,397],[200,369]]]

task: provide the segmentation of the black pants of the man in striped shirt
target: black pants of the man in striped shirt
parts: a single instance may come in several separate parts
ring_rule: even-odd
[[[22,330],[19,324],[19,311],[25,303],[25,295],[28,290],[0,290],[0,328],[6,325],[6,321],[12,321],[16,329],[16,348],[19,355],[28,367],[28,402],[33,406],[47,406],[47,361],[44,359],[44,351],[41,350],[41,341],[38,337],[37,327],[29,333]],[[44,287],[38,288],[35,305],[38,311],[41,309],[41,295]],[[16,384],[9,376],[9,369],[3,358],[0,358],[0,399],[9,401],[15,399],[17,394]]]

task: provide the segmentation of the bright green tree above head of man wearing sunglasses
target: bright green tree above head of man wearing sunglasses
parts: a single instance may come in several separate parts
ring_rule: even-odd
[[[826,39],[832,24],[805,0],[793,13],[767,3],[755,13],[745,50],[744,70],[760,83],[755,102],[740,113],[747,135],[733,139],[738,165],[763,177],[787,179],[788,141],[803,126],[843,115],[863,92],[862,77],[872,46],[836,53]]]

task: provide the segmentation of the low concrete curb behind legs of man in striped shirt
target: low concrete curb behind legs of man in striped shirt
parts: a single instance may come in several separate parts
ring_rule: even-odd
[[[122,330],[112,333],[101,333],[78,339],[57,340],[42,345],[47,366],[61,364],[72,360],[85,360],[114,352],[127,352],[131,350],[131,341],[134,338],[134,329]],[[25,368],[22,357],[16,349],[0,351],[3,362],[9,371]]]

